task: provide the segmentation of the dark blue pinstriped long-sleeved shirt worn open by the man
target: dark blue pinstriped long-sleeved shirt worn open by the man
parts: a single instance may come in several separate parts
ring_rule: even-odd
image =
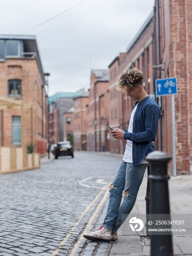
[[[157,135],[157,128],[161,110],[150,96],[136,102],[133,109],[138,104],[134,118],[133,118],[133,132],[124,133],[124,140],[132,140],[132,157],[133,165],[140,165],[142,159],[147,154],[154,151],[152,141]]]

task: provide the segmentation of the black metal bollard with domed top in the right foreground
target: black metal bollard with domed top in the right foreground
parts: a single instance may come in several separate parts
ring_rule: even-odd
[[[155,215],[167,214],[170,216],[169,190],[167,175],[167,163],[171,160],[170,155],[162,151],[154,151],[147,155],[146,160],[150,163],[150,175],[148,176],[150,189],[150,219],[154,223]],[[170,225],[166,225],[170,229]],[[152,234],[151,256],[172,256],[171,232],[166,234]]]

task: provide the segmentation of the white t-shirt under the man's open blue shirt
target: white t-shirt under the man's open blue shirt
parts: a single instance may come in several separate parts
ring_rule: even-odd
[[[137,105],[135,106],[135,108],[133,109],[133,111],[131,113],[128,132],[133,132],[133,117],[134,117],[135,111],[137,109],[137,106],[138,106],[138,103],[137,103]],[[127,140],[127,144],[126,144],[125,152],[124,152],[124,157],[123,157],[124,162],[127,162],[127,163],[132,163],[133,162],[132,150],[133,150],[133,142],[132,142],[132,140]],[[141,163],[148,163],[148,162],[143,158]]]

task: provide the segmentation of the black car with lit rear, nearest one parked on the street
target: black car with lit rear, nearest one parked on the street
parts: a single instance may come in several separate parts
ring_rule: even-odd
[[[54,149],[55,159],[60,156],[71,155],[74,157],[74,149],[69,141],[57,142],[57,147]]]

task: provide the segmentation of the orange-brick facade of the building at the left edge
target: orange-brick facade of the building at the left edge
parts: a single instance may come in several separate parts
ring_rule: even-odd
[[[22,81],[23,102],[33,105],[33,144],[34,151],[38,149],[37,141],[47,143],[46,139],[46,99],[45,89],[41,87],[42,79],[38,69],[37,60],[31,58],[6,59],[0,62],[0,95],[8,95],[8,80],[20,79]],[[15,98],[14,99],[18,99]],[[42,113],[43,105],[43,113]],[[31,142],[31,115],[30,110],[24,109],[24,147]],[[12,144],[12,116],[20,116],[20,109],[3,110],[4,145]],[[43,122],[42,122],[43,119]],[[43,129],[42,129],[43,127]],[[43,151],[44,154],[46,150]]]

